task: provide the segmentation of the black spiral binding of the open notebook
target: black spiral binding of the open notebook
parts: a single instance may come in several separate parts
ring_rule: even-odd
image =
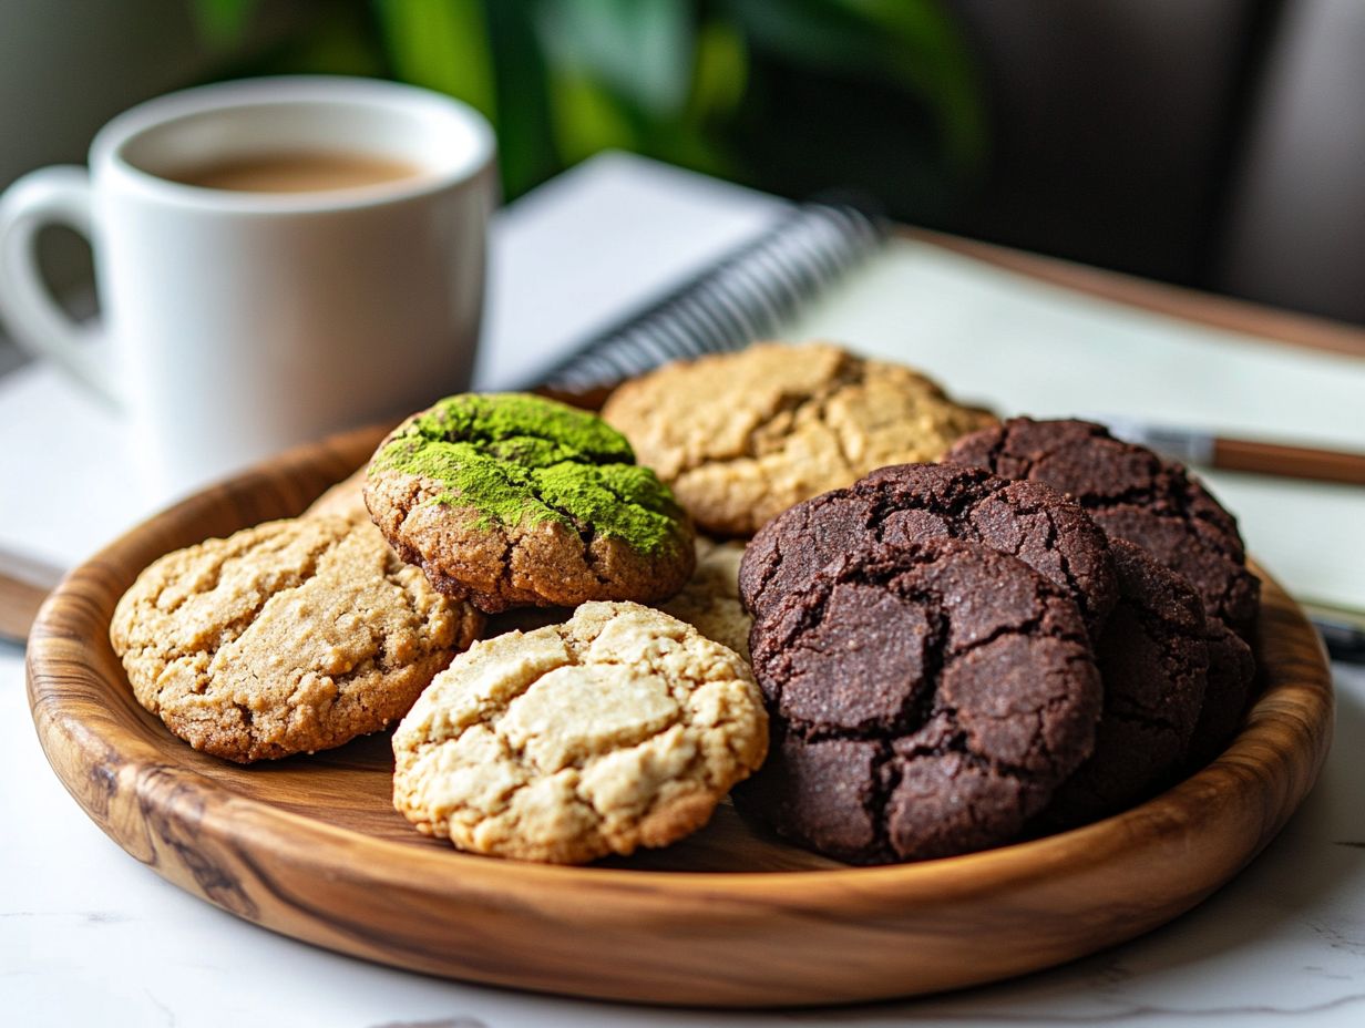
[[[883,223],[860,208],[804,203],[714,268],[587,340],[541,384],[584,392],[773,336],[885,239]]]

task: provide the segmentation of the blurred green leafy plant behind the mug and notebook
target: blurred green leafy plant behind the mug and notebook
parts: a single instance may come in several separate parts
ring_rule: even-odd
[[[976,68],[940,0],[191,0],[221,76],[382,75],[495,126],[508,198],[603,149],[935,220],[984,167]],[[268,10],[269,8],[269,10]]]

